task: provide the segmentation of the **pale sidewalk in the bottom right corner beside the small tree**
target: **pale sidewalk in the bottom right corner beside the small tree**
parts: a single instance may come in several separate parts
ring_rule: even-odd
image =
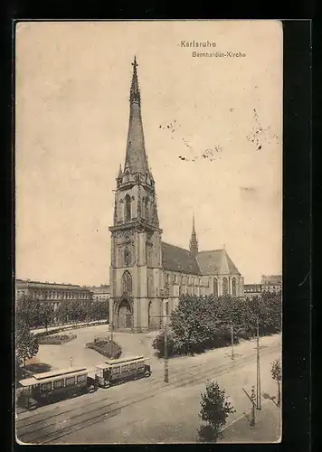
[[[251,415],[247,413],[250,417]],[[236,419],[223,430],[220,443],[274,443],[281,435],[281,410],[271,400],[255,410],[255,426],[251,427],[245,415]]]

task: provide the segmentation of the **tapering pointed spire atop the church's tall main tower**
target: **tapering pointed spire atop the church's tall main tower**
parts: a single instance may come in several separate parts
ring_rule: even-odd
[[[141,118],[141,95],[137,81],[136,57],[134,57],[132,66],[132,83],[129,92],[128,142],[124,173],[128,170],[130,174],[146,174],[149,171]]]

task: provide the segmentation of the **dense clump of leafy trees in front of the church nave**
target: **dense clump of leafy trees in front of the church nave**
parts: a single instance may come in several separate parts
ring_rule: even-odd
[[[181,296],[178,306],[170,315],[169,350],[173,354],[203,353],[224,347],[240,338],[248,339],[260,323],[260,335],[273,334],[281,327],[280,294],[263,294],[244,298],[225,295],[215,297]],[[164,354],[164,336],[156,336],[153,347],[157,355]]]

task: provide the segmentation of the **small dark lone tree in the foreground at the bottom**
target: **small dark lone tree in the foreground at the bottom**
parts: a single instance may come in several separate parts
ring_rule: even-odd
[[[228,416],[234,412],[226,392],[215,381],[208,381],[204,394],[201,394],[201,411],[199,417],[202,424],[198,430],[199,442],[216,442],[223,438],[222,428]]]

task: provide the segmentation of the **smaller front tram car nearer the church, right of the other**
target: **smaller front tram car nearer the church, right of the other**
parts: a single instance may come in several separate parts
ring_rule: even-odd
[[[150,360],[144,356],[133,356],[97,364],[95,381],[100,388],[109,388],[124,381],[149,377],[151,373]]]

